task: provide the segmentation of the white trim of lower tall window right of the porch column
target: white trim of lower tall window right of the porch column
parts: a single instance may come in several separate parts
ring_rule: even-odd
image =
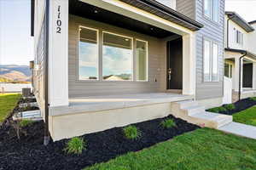
[[[206,80],[205,79],[205,41],[207,41],[207,42],[210,42],[210,71],[209,71],[209,79],[210,80]],[[212,50],[212,48],[213,48],[213,44],[216,44],[217,45],[217,47],[218,47],[218,54],[219,54],[219,45],[218,45],[218,42],[214,42],[214,41],[212,41],[211,39],[209,39],[209,38],[207,38],[207,37],[203,37],[203,51],[202,51],[202,54],[203,54],[203,82],[209,82],[209,83],[216,83],[216,82],[219,82],[219,57],[218,57],[218,68],[217,68],[217,70],[218,70],[218,80],[212,80],[212,59],[213,59],[213,57],[212,57],[212,54],[213,54],[213,50]]]

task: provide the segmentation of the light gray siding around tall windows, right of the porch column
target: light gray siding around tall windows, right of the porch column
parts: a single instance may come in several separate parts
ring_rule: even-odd
[[[219,22],[208,20],[203,14],[203,0],[195,0],[195,20],[204,27],[196,33],[196,99],[210,99],[223,96],[224,77],[224,0],[219,1]],[[203,80],[203,38],[218,43],[219,82]]]

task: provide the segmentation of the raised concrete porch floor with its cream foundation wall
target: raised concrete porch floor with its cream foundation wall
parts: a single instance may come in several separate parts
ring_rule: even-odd
[[[52,139],[68,139],[173,114],[172,103],[194,96],[170,93],[70,98],[68,106],[49,108]]]

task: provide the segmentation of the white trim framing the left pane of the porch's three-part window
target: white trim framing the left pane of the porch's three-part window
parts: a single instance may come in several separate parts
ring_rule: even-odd
[[[85,29],[88,29],[88,30],[93,30],[93,31],[96,31],[96,40],[97,40],[97,43],[96,43],[96,50],[97,50],[97,62],[98,62],[98,67],[97,67],[97,79],[80,79],[80,28],[85,28]],[[85,81],[85,82],[99,82],[100,80],[100,53],[99,53],[99,30],[96,29],[96,28],[91,28],[91,27],[87,27],[87,26],[79,26],[79,81]]]

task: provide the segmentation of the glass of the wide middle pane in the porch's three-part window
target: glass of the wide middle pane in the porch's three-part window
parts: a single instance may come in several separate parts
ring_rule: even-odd
[[[103,32],[103,80],[132,80],[132,62],[132,39]]]

